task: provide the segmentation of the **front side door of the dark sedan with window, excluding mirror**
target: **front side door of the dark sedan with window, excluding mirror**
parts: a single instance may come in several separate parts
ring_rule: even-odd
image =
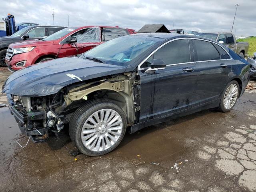
[[[190,39],[178,39],[160,47],[151,59],[164,60],[167,66],[154,74],[145,72],[152,62],[150,58],[142,64],[140,120],[147,121],[145,126],[161,122],[196,105],[198,72],[190,55],[190,42]]]

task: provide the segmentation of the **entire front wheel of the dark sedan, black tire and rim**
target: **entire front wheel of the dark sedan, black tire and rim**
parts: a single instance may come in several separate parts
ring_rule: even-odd
[[[110,118],[113,114],[114,116]],[[97,115],[98,120],[95,118]],[[70,118],[70,138],[75,142],[78,150],[88,156],[100,156],[114,150],[124,138],[125,132],[124,111],[107,99],[88,102],[78,108]]]

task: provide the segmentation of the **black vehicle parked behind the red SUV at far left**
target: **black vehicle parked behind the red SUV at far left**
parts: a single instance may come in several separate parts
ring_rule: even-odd
[[[6,56],[6,50],[10,44],[24,40],[45,38],[64,28],[66,27],[42,25],[28,26],[22,28],[9,37],[0,37],[0,66],[7,66],[5,64],[4,58]]]

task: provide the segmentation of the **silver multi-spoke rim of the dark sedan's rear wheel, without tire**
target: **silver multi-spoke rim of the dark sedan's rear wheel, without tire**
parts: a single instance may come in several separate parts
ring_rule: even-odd
[[[236,103],[238,96],[238,87],[236,84],[231,84],[228,86],[223,99],[223,104],[225,109],[231,109]]]

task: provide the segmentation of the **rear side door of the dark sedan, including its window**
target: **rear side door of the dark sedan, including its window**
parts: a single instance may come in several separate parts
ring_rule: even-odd
[[[207,40],[192,39],[198,82],[196,89],[198,104],[219,98],[231,72],[230,56],[218,44]]]

